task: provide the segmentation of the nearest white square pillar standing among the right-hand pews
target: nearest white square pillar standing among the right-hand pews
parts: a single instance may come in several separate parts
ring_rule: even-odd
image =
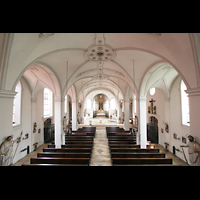
[[[141,148],[146,148],[147,145],[147,105],[146,97],[140,97],[140,146]]]

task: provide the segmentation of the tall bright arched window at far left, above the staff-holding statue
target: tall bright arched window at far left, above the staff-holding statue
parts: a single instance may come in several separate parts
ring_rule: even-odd
[[[22,88],[19,81],[15,88],[15,92],[17,92],[17,94],[13,100],[13,126],[21,124],[21,91]]]

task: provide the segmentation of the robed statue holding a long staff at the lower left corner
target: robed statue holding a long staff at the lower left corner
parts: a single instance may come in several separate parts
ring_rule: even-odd
[[[10,135],[1,144],[0,146],[0,156],[1,156],[0,165],[1,166],[13,165],[13,158],[15,157],[17,148],[19,146],[19,143],[21,142],[22,134],[23,134],[23,131],[21,132],[20,137],[18,137],[15,140],[13,140],[13,135]],[[13,145],[15,142],[18,142],[18,145],[13,155]]]

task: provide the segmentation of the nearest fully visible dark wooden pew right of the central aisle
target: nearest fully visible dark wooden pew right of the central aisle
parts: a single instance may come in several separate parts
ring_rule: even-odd
[[[112,162],[114,165],[172,164],[172,158],[113,158]]]

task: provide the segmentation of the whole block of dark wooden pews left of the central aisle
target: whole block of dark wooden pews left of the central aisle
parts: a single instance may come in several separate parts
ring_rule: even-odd
[[[83,127],[65,136],[65,145],[55,148],[55,142],[22,166],[89,166],[96,127]]]

